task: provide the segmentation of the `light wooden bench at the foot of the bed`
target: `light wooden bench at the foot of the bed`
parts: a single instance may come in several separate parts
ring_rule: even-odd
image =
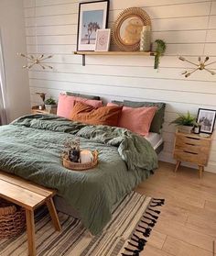
[[[61,230],[59,217],[53,204],[55,190],[32,184],[24,179],[0,172],[0,197],[26,209],[27,242],[30,256],[36,255],[34,210],[43,204],[49,208],[54,228]]]

